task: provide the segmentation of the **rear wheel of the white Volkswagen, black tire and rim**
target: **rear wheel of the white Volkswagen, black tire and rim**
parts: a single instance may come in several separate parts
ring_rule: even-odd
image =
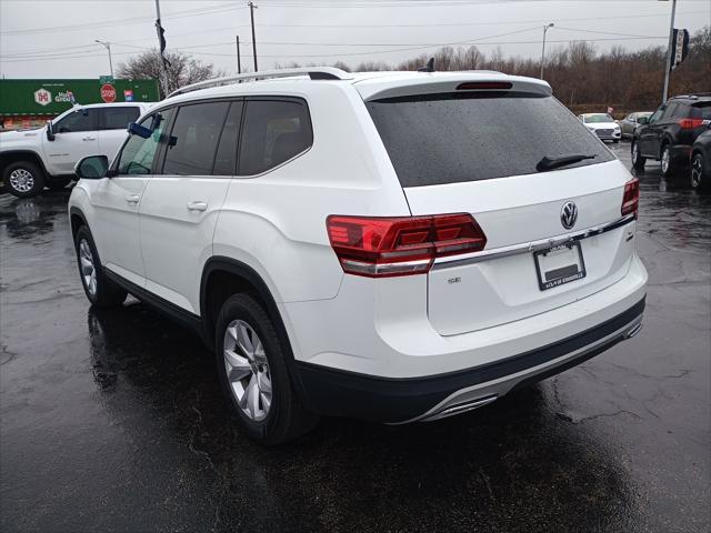
[[[251,439],[279,444],[316,425],[318,418],[293,391],[284,346],[258,300],[234,294],[224,302],[214,345],[220,384]]]

